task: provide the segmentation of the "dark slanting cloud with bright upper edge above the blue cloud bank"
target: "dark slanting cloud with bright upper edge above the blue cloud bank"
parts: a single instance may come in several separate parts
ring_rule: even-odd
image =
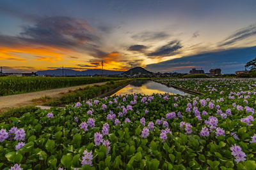
[[[179,52],[179,49],[182,48],[180,41],[173,40],[167,45],[161,46],[157,48],[156,51],[148,53],[148,57],[167,57],[174,55]]]

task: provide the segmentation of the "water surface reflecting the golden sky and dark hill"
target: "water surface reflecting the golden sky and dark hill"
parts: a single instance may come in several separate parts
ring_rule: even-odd
[[[151,80],[135,80],[132,81],[131,84],[125,86],[123,89],[116,92],[114,95],[125,95],[125,94],[146,94],[146,95],[152,95],[152,94],[181,94],[186,95],[185,92],[182,92],[180,90],[174,89],[173,87],[167,87],[166,85],[162,85],[160,83],[157,83],[155,81]]]

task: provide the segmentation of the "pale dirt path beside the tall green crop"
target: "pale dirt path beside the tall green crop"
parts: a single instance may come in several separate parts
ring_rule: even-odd
[[[88,85],[79,85],[75,87],[65,87],[61,89],[52,89],[52,90],[43,90],[39,92],[29,92],[24,94],[15,94],[10,96],[1,96],[0,97],[0,110],[6,110],[8,108],[17,108],[19,106],[28,106],[32,105],[32,99],[38,99],[40,97],[49,96],[49,97],[60,97],[61,93],[68,92],[69,90],[76,90],[79,88],[84,88],[86,86],[93,85],[104,85],[107,82],[102,83],[92,83]]]

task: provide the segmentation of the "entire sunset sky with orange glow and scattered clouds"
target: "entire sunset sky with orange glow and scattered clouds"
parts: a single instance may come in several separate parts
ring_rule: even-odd
[[[256,57],[256,1],[1,0],[4,72],[100,68],[188,73]]]

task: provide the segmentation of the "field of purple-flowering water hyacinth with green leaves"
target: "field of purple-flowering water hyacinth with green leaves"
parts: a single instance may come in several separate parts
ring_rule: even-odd
[[[256,169],[256,79],[159,79],[202,96],[105,97],[0,124],[0,169]]]

